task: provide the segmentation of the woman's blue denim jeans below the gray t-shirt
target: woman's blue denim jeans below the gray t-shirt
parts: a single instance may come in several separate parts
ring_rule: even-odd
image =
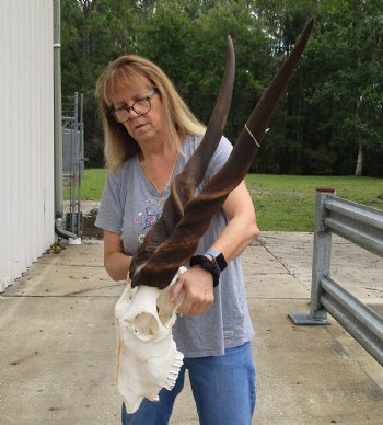
[[[123,404],[123,425],[167,425],[185,368],[201,425],[251,425],[256,400],[251,343],[228,348],[223,356],[185,358],[176,384],[172,391],[162,389],[159,402],[144,399],[131,415]]]

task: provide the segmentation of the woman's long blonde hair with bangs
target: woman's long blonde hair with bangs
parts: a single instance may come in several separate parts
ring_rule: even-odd
[[[182,152],[184,135],[200,135],[206,129],[182,100],[172,81],[161,68],[137,55],[121,56],[107,66],[96,85],[98,112],[105,136],[106,166],[115,173],[119,171],[127,159],[137,154],[140,148],[128,134],[124,124],[116,123],[111,116],[113,99],[121,90],[135,87],[138,81],[142,80],[147,80],[153,89],[158,90],[165,111],[164,125],[167,126],[179,152]]]

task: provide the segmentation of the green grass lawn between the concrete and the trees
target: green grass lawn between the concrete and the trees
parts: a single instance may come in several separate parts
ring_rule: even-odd
[[[100,199],[105,179],[104,169],[85,170],[82,199]],[[246,182],[260,230],[313,231],[315,191],[321,186],[333,187],[341,198],[383,209],[383,179],[248,174]]]

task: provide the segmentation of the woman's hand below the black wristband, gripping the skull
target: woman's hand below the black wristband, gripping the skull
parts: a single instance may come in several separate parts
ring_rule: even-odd
[[[175,302],[182,291],[184,291],[184,298],[178,307],[178,313],[204,314],[214,301],[211,274],[195,265],[178,277],[171,290],[170,301]]]

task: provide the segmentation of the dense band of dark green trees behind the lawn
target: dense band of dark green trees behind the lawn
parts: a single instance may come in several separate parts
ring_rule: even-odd
[[[89,165],[103,163],[96,80],[116,57],[159,64],[199,119],[236,54],[225,135],[234,141],[305,22],[314,31],[254,169],[383,175],[383,0],[62,0],[62,92],[84,93]]]

